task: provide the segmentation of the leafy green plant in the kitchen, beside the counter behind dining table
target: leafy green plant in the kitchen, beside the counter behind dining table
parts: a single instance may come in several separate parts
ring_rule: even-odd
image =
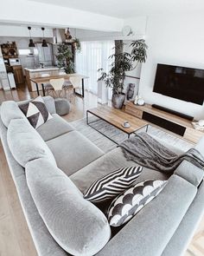
[[[57,50],[58,67],[64,69],[66,74],[74,73],[73,53],[70,44],[60,43]]]

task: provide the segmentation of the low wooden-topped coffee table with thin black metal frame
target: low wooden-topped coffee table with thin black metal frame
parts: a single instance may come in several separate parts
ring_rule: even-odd
[[[119,130],[123,131],[125,134],[128,135],[128,138],[132,134],[135,134],[139,129],[141,128],[146,128],[146,132],[148,130],[149,123],[147,121],[143,121],[141,119],[138,119],[135,116],[129,115],[127,113],[124,113],[122,110],[116,109],[116,108],[111,108],[108,106],[101,106],[98,108],[92,108],[88,109],[86,111],[86,123],[94,128],[91,124],[96,121],[89,121],[89,114],[95,115],[99,118],[99,120],[103,120],[114,126],[115,128],[118,128]],[[97,120],[97,121],[99,121]],[[129,121],[131,124],[130,128],[124,128],[123,123],[124,121]],[[104,135],[107,137],[109,140],[113,141],[110,137],[106,136],[105,134],[101,133],[98,129],[94,128],[97,130],[100,134]],[[113,141],[116,144],[118,144],[116,141]]]

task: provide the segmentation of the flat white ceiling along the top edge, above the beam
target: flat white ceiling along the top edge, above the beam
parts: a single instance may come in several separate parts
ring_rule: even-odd
[[[77,10],[86,10],[105,16],[128,18],[167,13],[204,11],[203,0],[28,0],[50,3]]]

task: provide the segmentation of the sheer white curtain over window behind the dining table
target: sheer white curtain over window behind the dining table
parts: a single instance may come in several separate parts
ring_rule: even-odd
[[[97,70],[103,68],[107,72],[110,69],[112,60],[108,57],[114,53],[114,46],[114,41],[81,42],[81,51],[76,54],[76,72],[89,77],[85,79],[85,89],[94,94],[98,93]]]

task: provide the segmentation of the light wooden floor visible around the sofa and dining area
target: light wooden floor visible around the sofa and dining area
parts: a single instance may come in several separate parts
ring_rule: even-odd
[[[29,94],[24,85],[12,91],[3,92],[0,90],[0,104],[3,101],[22,101],[35,96],[36,93]],[[80,119],[86,115],[87,108],[97,106],[97,97],[86,92],[84,100],[80,97],[73,98],[71,113],[66,115],[65,119],[67,121]],[[36,255],[35,246],[22,213],[16,187],[0,143],[0,256]],[[201,255],[204,255],[204,219],[188,246],[187,253],[185,253],[185,256]]]

